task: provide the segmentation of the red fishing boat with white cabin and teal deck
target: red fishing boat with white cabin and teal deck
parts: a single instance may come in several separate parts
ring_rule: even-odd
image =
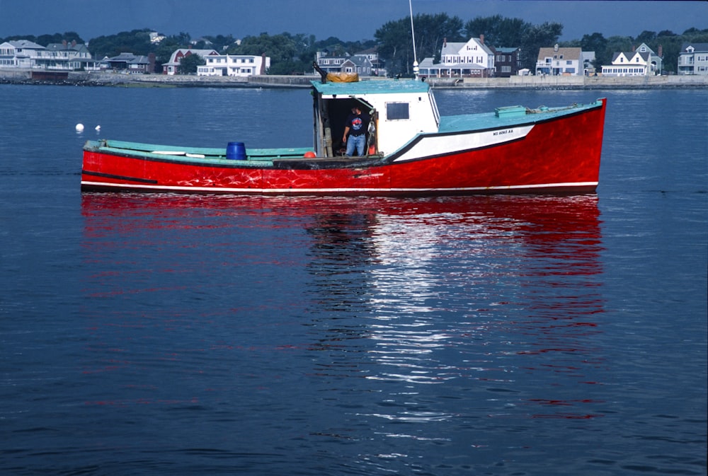
[[[81,190],[257,195],[458,195],[592,192],[605,99],[440,116],[416,79],[312,81],[312,146],[246,149],[87,141]],[[340,145],[354,106],[365,153]],[[305,139],[307,141],[307,139]]]

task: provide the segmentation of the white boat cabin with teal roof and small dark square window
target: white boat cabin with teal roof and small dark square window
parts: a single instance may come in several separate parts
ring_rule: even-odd
[[[396,81],[312,81],[314,148],[318,157],[342,156],[347,116],[354,105],[370,117],[367,151],[385,156],[401,149],[417,134],[438,132],[440,114],[428,83]]]

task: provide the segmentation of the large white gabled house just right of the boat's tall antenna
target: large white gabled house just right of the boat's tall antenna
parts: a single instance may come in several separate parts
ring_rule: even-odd
[[[467,42],[442,41],[440,63],[425,58],[420,64],[423,77],[437,78],[487,78],[494,73],[494,52],[484,45],[484,35]]]

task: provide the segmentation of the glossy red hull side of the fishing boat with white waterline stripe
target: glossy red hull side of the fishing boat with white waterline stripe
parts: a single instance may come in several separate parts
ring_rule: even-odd
[[[258,195],[592,192],[604,122],[605,100],[596,108],[536,122],[522,139],[360,167],[255,168],[239,161],[224,166],[85,149],[81,189]]]

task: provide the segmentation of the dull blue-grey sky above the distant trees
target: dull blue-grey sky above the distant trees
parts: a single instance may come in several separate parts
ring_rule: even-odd
[[[416,13],[447,13],[463,23],[501,15],[535,25],[564,25],[561,40],[602,33],[636,37],[644,30],[708,28],[708,1],[411,0]],[[150,28],[166,35],[288,32],[317,40],[373,40],[377,28],[409,16],[407,0],[0,0],[0,38],[74,31],[84,41]]]

